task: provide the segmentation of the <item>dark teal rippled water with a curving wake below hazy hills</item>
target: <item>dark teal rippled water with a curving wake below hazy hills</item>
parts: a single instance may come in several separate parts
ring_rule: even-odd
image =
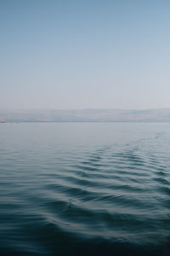
[[[1,255],[170,255],[170,124],[0,124]]]

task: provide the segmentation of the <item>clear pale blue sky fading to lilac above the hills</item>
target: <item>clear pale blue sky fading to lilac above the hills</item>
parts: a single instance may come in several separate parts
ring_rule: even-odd
[[[0,0],[0,109],[170,108],[169,0]]]

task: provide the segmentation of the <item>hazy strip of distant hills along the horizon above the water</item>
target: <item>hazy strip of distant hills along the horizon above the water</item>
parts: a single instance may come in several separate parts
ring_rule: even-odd
[[[5,122],[170,122],[170,108],[147,110],[0,110]]]

